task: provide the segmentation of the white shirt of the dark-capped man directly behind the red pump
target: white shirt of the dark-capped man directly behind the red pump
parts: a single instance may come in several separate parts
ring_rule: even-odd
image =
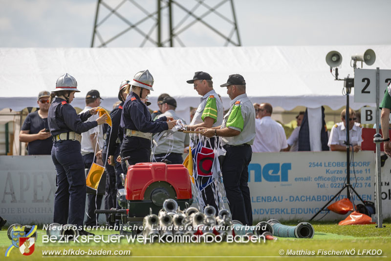
[[[174,110],[168,110],[165,113],[158,115],[157,119],[162,118],[163,116],[173,117],[174,119],[181,119],[179,118],[179,116],[176,115]],[[186,124],[184,119],[181,120],[183,121],[184,124]],[[182,154],[185,145],[189,145],[190,142],[189,134],[177,131],[174,133],[173,137],[174,137],[174,142],[171,137],[160,140],[157,143],[155,154],[167,153],[169,150],[171,150],[172,146],[173,146],[173,150],[171,152]]]

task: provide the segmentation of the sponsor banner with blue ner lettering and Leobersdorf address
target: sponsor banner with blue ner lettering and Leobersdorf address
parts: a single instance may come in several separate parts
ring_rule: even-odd
[[[346,165],[346,153],[337,151],[253,153],[248,166],[253,219],[310,219],[343,188]],[[350,173],[350,184],[361,198],[375,201],[374,153],[354,153]],[[345,197],[347,189],[336,200]],[[352,199],[359,204],[355,194]],[[324,214],[326,211],[314,220]],[[322,220],[342,220],[346,216],[330,212]]]

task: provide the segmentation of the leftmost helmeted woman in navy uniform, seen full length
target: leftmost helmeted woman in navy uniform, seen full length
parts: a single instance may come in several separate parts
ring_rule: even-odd
[[[56,89],[50,95],[52,103],[47,119],[53,136],[51,155],[57,171],[58,186],[54,196],[53,221],[62,225],[76,225],[80,233],[85,235],[87,232],[82,230],[82,226],[86,205],[86,173],[80,152],[81,133],[105,123],[108,116],[105,114],[95,121],[84,122],[98,111],[92,108],[77,115],[69,104],[76,92],[80,91],[75,78],[65,73],[57,79]]]

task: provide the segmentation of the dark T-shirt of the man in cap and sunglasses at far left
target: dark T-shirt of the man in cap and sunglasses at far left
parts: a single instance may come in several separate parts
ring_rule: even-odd
[[[47,124],[47,118],[42,119],[38,114],[38,111],[27,115],[22,126],[22,130],[29,130],[30,134],[37,134],[45,128],[49,128]],[[33,142],[28,142],[28,155],[50,155],[52,151],[52,145],[52,137],[49,137],[46,140],[35,140]]]

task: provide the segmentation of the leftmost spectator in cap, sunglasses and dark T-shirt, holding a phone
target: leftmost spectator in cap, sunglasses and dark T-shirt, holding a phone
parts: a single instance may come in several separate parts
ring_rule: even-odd
[[[53,141],[47,124],[50,93],[42,91],[38,94],[39,110],[27,115],[19,134],[21,142],[28,142],[28,155],[50,155]]]

